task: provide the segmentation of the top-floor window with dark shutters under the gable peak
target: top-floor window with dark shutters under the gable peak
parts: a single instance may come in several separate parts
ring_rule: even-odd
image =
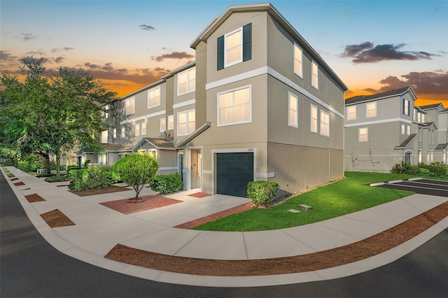
[[[252,24],[218,37],[218,70],[252,58]]]

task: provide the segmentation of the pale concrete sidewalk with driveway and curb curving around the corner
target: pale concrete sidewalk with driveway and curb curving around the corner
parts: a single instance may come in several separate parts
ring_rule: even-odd
[[[62,253],[123,274],[166,283],[207,286],[256,286],[321,281],[357,274],[397,260],[448,227],[448,218],[402,245],[368,259],[343,266],[300,274],[275,276],[193,276],[144,269],[104,259],[118,243],[153,253],[216,260],[255,260],[316,253],[345,246],[409,220],[448,201],[447,197],[414,194],[364,211],[311,225],[260,232],[208,232],[175,228],[248,202],[246,198],[220,194],[197,199],[180,192],[166,197],[182,202],[125,215],[99,203],[132,197],[133,190],[78,197],[67,191],[68,183],[46,183],[14,167],[18,178],[11,187],[38,232]],[[3,169],[2,169],[3,171]],[[5,175],[6,176],[6,175]],[[25,185],[15,186],[22,182]],[[29,203],[25,196],[38,194],[45,201]],[[141,195],[155,194],[148,188]],[[75,225],[50,228],[41,214],[59,209]]]

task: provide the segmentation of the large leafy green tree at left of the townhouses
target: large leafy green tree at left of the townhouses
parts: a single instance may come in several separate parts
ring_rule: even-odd
[[[22,152],[56,158],[59,175],[64,152],[79,146],[99,150],[99,136],[107,128],[103,108],[116,93],[107,91],[90,73],[59,68],[48,73],[41,60],[24,61],[25,80],[2,73],[1,121],[15,128],[13,144]],[[4,102],[4,104],[3,104]],[[5,129],[1,129],[3,133]]]

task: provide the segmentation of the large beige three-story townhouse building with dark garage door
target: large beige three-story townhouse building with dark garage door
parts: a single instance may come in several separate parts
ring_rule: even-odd
[[[105,164],[151,152],[187,190],[241,197],[248,181],[297,192],[344,176],[347,87],[271,4],[230,6],[190,47],[195,62],[118,101]]]

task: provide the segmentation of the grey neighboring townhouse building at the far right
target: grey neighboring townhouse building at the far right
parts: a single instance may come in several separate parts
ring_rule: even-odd
[[[346,99],[346,170],[447,162],[448,113],[442,104],[415,106],[416,99],[412,87]]]

